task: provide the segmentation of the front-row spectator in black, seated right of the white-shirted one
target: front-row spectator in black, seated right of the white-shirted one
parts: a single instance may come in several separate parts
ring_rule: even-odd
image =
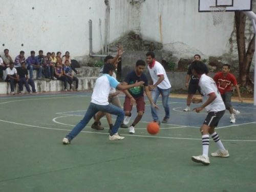
[[[28,77],[28,70],[26,69],[26,63],[22,62],[22,67],[17,68],[17,73],[19,76],[18,86],[19,86],[19,94],[23,94],[23,84],[25,84],[26,90],[28,93],[32,94],[36,93],[35,83],[32,78]],[[32,92],[29,88],[29,84],[32,88]]]

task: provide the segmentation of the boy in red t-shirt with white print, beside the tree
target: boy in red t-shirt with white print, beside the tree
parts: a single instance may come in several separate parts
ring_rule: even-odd
[[[230,65],[224,64],[222,66],[222,72],[216,73],[214,76],[214,80],[217,84],[218,90],[220,91],[221,97],[225,103],[226,110],[230,113],[230,123],[235,123],[236,118],[234,117],[234,114],[238,115],[240,112],[238,110],[234,110],[231,105],[231,96],[232,96],[232,87],[234,86],[238,92],[238,97],[241,102],[243,102],[237,79],[234,77],[233,74],[229,73],[230,71]]]

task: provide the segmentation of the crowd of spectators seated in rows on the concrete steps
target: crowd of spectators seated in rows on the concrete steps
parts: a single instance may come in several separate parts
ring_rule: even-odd
[[[11,94],[14,94],[14,86],[16,83],[19,85],[19,93],[23,92],[23,85],[29,93],[36,93],[35,84],[33,80],[33,71],[37,71],[37,80],[61,80],[64,84],[64,90],[67,91],[67,83],[69,83],[69,91],[73,89],[73,81],[75,81],[75,90],[78,89],[78,78],[73,75],[79,73],[73,67],[71,62],[70,53],[67,51],[64,56],[61,57],[61,53],[48,52],[46,56],[42,50],[38,51],[38,55],[35,56],[35,51],[30,52],[30,56],[26,59],[25,52],[20,51],[19,55],[13,60],[9,55],[9,50],[4,50],[4,55],[0,55],[0,81],[6,81],[10,83]],[[4,77],[4,71],[6,77]],[[42,77],[43,76],[43,77]],[[29,84],[32,88],[30,90]]]

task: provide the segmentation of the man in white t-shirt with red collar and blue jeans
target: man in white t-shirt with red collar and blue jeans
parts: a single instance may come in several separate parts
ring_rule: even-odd
[[[146,53],[146,62],[147,69],[150,72],[150,76],[153,80],[153,85],[150,85],[150,90],[152,91],[152,98],[156,104],[159,95],[162,96],[162,104],[165,111],[165,116],[162,120],[162,123],[167,123],[170,115],[168,100],[169,94],[172,86],[170,85],[169,79],[166,75],[166,72],[160,62],[157,62],[155,59],[155,53],[150,51]],[[159,117],[157,115],[157,110],[151,106],[151,113],[153,120],[160,124]]]

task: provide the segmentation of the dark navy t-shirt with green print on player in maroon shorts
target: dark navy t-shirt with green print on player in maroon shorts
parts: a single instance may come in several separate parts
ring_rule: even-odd
[[[132,71],[131,73],[127,74],[124,82],[128,83],[128,84],[133,84],[136,81],[144,81],[144,85],[142,86],[138,86],[138,87],[133,87],[130,88],[128,91],[129,93],[134,97],[134,98],[138,98],[143,96],[144,94],[144,86],[148,86],[148,82],[147,82],[147,78],[146,75],[144,73],[141,74],[141,76],[137,76],[135,71]]]

